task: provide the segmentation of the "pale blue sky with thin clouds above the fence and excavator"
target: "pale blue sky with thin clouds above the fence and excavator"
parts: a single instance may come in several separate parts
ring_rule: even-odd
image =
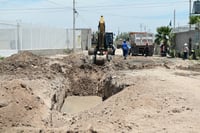
[[[73,0],[0,0],[0,21],[72,28]],[[156,31],[167,26],[176,10],[176,26],[188,24],[189,0],[76,0],[76,27],[97,30],[101,15],[116,34]]]

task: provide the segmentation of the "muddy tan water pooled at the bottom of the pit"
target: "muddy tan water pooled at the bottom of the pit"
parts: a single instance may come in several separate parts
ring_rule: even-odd
[[[65,99],[61,112],[73,114],[88,110],[102,103],[102,98],[98,96],[68,96]]]

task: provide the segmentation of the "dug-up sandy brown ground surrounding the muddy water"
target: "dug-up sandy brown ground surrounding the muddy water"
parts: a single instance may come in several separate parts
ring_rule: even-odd
[[[83,54],[0,61],[0,132],[200,131],[199,61],[120,54],[103,66]],[[95,107],[61,112],[68,96],[105,94]]]

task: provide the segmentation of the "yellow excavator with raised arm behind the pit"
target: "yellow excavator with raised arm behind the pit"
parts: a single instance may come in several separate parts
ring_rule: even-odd
[[[100,17],[98,25],[97,44],[88,50],[88,55],[92,56],[92,62],[102,65],[105,61],[110,61],[113,55],[113,33],[105,32],[104,17]]]

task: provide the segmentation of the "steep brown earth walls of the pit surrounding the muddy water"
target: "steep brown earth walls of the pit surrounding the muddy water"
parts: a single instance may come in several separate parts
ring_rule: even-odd
[[[102,100],[106,100],[125,87],[118,84],[114,75],[109,72],[105,74],[94,71],[88,74],[81,71],[80,73],[79,76],[76,73],[67,74],[69,77],[65,78],[69,82],[65,82],[65,88],[56,89],[52,95],[52,109],[61,111],[68,96],[99,96],[102,97]],[[72,78],[75,75],[76,78]]]

